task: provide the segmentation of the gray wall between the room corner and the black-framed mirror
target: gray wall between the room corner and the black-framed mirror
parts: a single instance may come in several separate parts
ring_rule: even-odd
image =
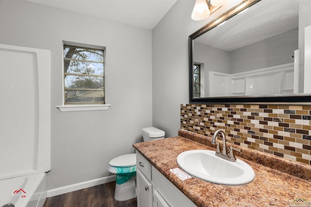
[[[218,17],[219,9],[207,19],[194,21],[195,0],[177,0],[152,30],[153,125],[167,137],[180,129],[180,104],[189,103],[188,38]]]

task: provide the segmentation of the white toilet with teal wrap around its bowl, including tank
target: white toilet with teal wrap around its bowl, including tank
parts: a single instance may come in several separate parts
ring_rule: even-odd
[[[164,138],[165,132],[155,127],[142,130],[144,141]],[[121,155],[109,162],[108,171],[117,175],[115,199],[126,201],[137,196],[136,193],[136,154]]]

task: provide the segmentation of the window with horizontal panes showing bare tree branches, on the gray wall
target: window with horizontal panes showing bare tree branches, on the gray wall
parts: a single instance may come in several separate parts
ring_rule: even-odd
[[[104,50],[64,45],[64,104],[105,104]]]

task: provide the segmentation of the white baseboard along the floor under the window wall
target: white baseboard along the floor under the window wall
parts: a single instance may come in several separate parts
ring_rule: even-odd
[[[116,175],[109,175],[109,176],[101,177],[101,178],[94,179],[94,180],[88,180],[88,181],[81,182],[81,183],[75,183],[69,186],[63,186],[60,188],[51,189],[47,191],[47,198],[56,196],[56,195],[61,195],[61,194],[68,193],[68,192],[72,192],[75,190],[81,190],[81,189],[85,189],[85,188],[89,188],[89,187],[93,187],[97,185],[102,185],[104,183],[109,183],[115,180],[116,180]]]

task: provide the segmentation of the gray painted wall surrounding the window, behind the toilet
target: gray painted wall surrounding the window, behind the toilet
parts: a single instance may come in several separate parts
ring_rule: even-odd
[[[141,129],[152,125],[151,31],[24,0],[0,0],[0,28],[1,44],[51,51],[48,189],[109,175],[109,161],[133,153]],[[63,96],[62,40],[106,47],[109,110],[56,108]]]

